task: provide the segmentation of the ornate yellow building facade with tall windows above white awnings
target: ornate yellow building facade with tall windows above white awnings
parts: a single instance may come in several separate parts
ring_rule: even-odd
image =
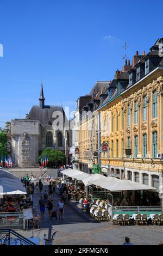
[[[100,154],[100,163],[109,175],[157,188],[162,184],[162,102],[160,68],[98,109],[101,141],[109,144],[108,153]],[[126,155],[126,149],[131,149],[131,155]]]

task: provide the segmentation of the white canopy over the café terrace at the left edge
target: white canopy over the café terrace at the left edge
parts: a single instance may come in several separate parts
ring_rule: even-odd
[[[0,194],[27,194],[20,179],[6,170],[0,169]]]

